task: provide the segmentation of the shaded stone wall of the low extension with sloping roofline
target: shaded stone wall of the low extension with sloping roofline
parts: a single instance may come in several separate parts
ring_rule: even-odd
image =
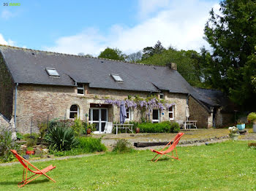
[[[189,120],[197,120],[198,128],[211,128],[212,114],[209,114],[192,96],[189,96],[189,115]]]

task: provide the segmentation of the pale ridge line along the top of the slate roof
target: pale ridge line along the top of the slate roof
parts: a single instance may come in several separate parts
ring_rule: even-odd
[[[113,59],[109,59],[109,58],[97,58],[97,57],[89,56],[89,55],[73,55],[73,54],[67,54],[67,53],[61,53],[61,52],[50,52],[50,51],[45,51],[45,50],[35,50],[35,49],[24,48],[24,47],[10,46],[10,45],[6,45],[6,44],[0,44],[0,47],[10,47],[10,48],[18,49],[18,50],[29,50],[29,51],[35,51],[35,52],[55,53],[55,54],[59,54],[59,55],[70,55],[70,56],[82,57],[82,58],[94,58],[94,59],[105,60],[105,61],[117,61],[117,62],[122,62],[122,63],[131,63],[131,62],[128,62],[128,61],[113,60]],[[159,65],[146,64],[146,63],[132,63],[132,64],[143,65],[143,66],[168,67],[168,66],[159,66]]]

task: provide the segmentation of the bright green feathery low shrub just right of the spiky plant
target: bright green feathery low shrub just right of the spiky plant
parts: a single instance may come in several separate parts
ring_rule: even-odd
[[[78,149],[83,149],[84,152],[102,152],[107,149],[100,138],[80,137],[78,141]]]

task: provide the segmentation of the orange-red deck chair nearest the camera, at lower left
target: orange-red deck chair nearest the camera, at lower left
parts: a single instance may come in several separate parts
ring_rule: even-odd
[[[17,151],[15,150],[12,150],[11,149],[11,152],[15,155],[15,157],[20,161],[21,165],[23,165],[23,178],[22,178],[22,182],[19,182],[18,183],[18,187],[23,187],[25,186],[26,184],[28,184],[29,182],[33,181],[34,179],[37,179],[39,176],[41,175],[44,175],[46,177],[48,177],[48,179],[52,180],[53,182],[56,182],[55,180],[51,179],[50,176],[46,175],[46,173],[48,171],[51,171],[53,170],[53,168],[56,168],[56,166],[53,166],[53,165],[49,165],[48,167],[42,169],[42,170],[39,170],[37,167],[35,167],[34,165],[32,165],[31,163],[29,163],[28,160],[24,159],[23,157],[21,157],[20,155],[18,155]],[[29,165],[34,168],[35,170],[31,170],[31,168],[29,168]],[[25,173],[26,171],[26,173]],[[30,176],[28,178],[28,171],[31,171],[31,173],[33,173],[34,175]],[[38,176],[36,176],[38,175]],[[25,176],[25,177],[24,177]],[[31,179],[33,176],[36,176],[34,177],[34,179]],[[30,180],[29,180],[30,179]]]

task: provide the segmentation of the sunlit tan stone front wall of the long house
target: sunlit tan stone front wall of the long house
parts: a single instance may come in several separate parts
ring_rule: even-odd
[[[139,95],[146,98],[148,93],[105,90],[85,86],[85,95],[79,95],[76,87],[61,87],[49,85],[19,85],[17,98],[17,129],[21,133],[38,132],[37,122],[53,118],[69,118],[70,106],[79,106],[80,119],[85,120],[89,114],[90,104],[105,104],[104,99],[124,100],[129,96]],[[103,100],[102,100],[103,99]],[[174,107],[174,120],[185,120],[187,95],[180,93],[165,93],[165,99],[176,103]],[[160,121],[169,120],[168,111],[165,109],[160,114]],[[132,120],[140,121],[140,111],[134,109]],[[152,117],[152,114],[150,115]],[[88,121],[89,119],[87,119]],[[108,121],[119,121],[119,108],[108,106]]]

